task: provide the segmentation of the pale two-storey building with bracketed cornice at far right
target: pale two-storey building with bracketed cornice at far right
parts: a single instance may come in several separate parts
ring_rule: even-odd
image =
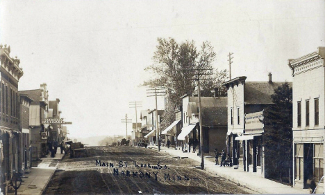
[[[294,187],[308,188],[308,178],[319,183],[324,175],[325,47],[289,59],[293,87]],[[324,192],[324,180],[317,193]]]

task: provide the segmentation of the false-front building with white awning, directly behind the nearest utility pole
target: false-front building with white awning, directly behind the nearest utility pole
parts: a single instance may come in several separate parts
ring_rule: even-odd
[[[217,96],[217,95],[215,95]],[[183,128],[178,140],[183,140],[183,149],[191,151],[200,148],[199,97],[183,95]],[[227,97],[201,97],[203,152],[213,153],[217,148],[225,149],[227,132]]]

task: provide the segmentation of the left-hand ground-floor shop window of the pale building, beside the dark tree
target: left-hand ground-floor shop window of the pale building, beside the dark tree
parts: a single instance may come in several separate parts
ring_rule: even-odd
[[[303,144],[294,146],[294,178],[296,180],[303,179]]]

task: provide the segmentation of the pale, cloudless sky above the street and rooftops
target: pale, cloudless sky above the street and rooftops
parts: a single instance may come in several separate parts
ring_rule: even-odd
[[[288,59],[325,46],[325,1],[0,1],[0,42],[20,59],[19,90],[47,83],[70,136],[126,131],[129,102],[155,109],[144,80],[157,38],[214,46],[213,66],[247,81],[292,81]],[[158,109],[163,109],[158,97]],[[139,122],[140,119],[138,119]],[[131,125],[128,126],[131,133]]]

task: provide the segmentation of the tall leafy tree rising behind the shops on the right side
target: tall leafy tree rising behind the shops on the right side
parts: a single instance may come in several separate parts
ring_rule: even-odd
[[[144,86],[165,87],[168,89],[167,104],[163,122],[160,128],[164,129],[174,121],[174,108],[181,104],[181,96],[186,93],[194,93],[197,83],[194,82],[192,68],[212,68],[216,54],[209,42],[203,42],[198,50],[194,41],[185,41],[178,44],[175,39],[158,38],[158,46],[153,54],[153,64],[145,68],[145,71],[153,73],[153,78],[144,82]],[[218,80],[225,71],[217,71]],[[213,75],[213,76],[215,76]],[[222,86],[222,84],[219,84]],[[215,80],[202,80],[201,91],[203,95],[211,96],[215,88]],[[202,96],[203,96],[202,95]]]

